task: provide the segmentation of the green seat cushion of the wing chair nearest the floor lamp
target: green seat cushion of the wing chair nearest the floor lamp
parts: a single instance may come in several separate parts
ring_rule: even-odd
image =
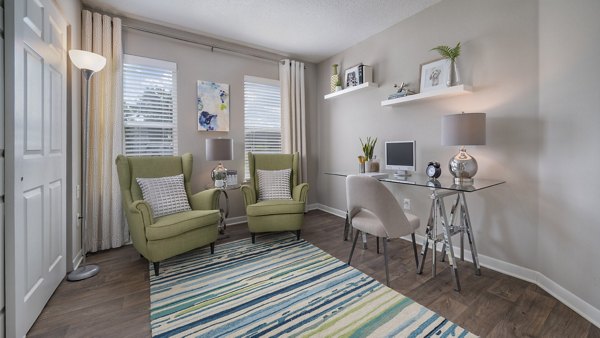
[[[217,226],[219,210],[192,210],[157,218],[146,227],[146,238],[150,241],[175,237],[205,226]]]

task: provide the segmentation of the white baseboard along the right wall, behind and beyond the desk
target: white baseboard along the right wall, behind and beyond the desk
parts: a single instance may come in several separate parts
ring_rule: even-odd
[[[332,215],[345,218],[346,212],[335,209],[323,204],[317,204],[319,210],[330,213]],[[405,236],[403,239],[407,241],[411,241],[410,236]],[[425,240],[425,237],[421,235],[416,235],[415,239],[417,244],[422,244]],[[442,244],[438,243],[436,247],[437,251],[442,251]],[[454,252],[460,253],[460,247],[454,246]],[[473,262],[471,258],[471,251],[465,249],[465,260],[469,262]],[[590,303],[585,300],[579,298],[577,295],[573,294],[571,291],[565,289],[560,286],[550,278],[546,277],[542,273],[525,268],[519,265],[515,265],[512,263],[508,263],[493,257],[479,255],[479,264],[488,269],[498,271],[505,275],[509,275],[515,278],[519,278],[521,280],[536,284],[540,288],[544,289],[546,292],[551,294],[554,298],[558,299],[561,303],[565,304],[573,311],[577,312],[583,318],[589,320],[596,327],[600,327],[600,310],[592,306]]]

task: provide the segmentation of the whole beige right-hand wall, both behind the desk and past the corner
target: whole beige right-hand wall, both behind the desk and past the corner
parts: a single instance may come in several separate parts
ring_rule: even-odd
[[[600,227],[592,215],[599,187],[598,9],[592,0],[442,1],[320,63],[319,203],[345,209],[343,179],[323,173],[356,170],[359,137],[379,137],[380,158],[383,141],[414,139],[417,170],[437,160],[448,175],[456,149],[440,145],[441,117],[485,112],[487,144],[468,147],[479,162],[476,177],[507,183],[467,195],[482,261],[591,309],[588,318],[600,323]],[[473,94],[380,107],[394,83],[418,87],[419,64],[437,58],[432,47],[458,41]],[[380,88],[323,100],[331,64],[359,62],[374,67]],[[426,222],[426,190],[390,188],[399,200],[410,198],[411,212]]]

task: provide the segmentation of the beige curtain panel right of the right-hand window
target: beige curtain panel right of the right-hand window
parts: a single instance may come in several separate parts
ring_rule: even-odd
[[[282,60],[279,63],[281,83],[281,138],[284,153],[300,153],[300,182],[307,181],[306,103],[304,63]]]

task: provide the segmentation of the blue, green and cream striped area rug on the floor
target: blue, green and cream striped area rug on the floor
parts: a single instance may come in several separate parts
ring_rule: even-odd
[[[383,267],[382,267],[383,268]],[[150,266],[153,337],[472,337],[288,233]]]

